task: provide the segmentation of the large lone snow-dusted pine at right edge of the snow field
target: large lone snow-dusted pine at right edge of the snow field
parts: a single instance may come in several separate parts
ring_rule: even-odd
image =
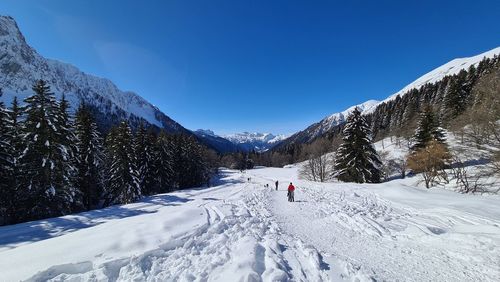
[[[373,147],[370,127],[358,108],[347,118],[335,160],[336,177],[344,182],[380,182],[381,162]]]

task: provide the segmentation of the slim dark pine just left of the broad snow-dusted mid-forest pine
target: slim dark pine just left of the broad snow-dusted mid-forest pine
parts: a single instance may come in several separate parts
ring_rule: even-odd
[[[75,118],[76,188],[81,193],[83,207],[99,207],[104,191],[104,152],[101,134],[90,110],[81,104]]]

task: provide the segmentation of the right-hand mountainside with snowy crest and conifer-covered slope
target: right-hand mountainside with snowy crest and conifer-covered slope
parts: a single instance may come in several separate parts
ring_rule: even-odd
[[[463,127],[468,124],[464,114],[483,102],[479,88],[496,87],[491,81],[500,79],[499,54],[500,47],[474,57],[455,59],[382,102],[368,101],[357,107],[371,124],[375,140],[391,135],[410,138],[417,126],[418,114],[426,105],[431,106],[444,127]],[[500,89],[487,91],[495,92],[496,97],[500,95]],[[498,99],[488,102],[499,103]],[[333,119],[332,122],[332,117],[344,117],[353,109],[327,117],[283,140],[272,149],[271,154],[279,156],[273,165],[303,160],[304,148],[314,142],[326,139],[336,144],[345,120]]]

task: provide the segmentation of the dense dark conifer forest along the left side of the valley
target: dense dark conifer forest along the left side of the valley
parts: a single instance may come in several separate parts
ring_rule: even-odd
[[[21,105],[0,103],[0,225],[137,201],[209,182],[213,152],[194,137],[126,120],[102,134],[37,81]],[[0,91],[1,92],[1,91]]]

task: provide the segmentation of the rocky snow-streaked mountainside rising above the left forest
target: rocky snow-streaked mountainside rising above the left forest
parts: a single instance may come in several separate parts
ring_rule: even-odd
[[[65,94],[73,109],[83,101],[103,117],[142,118],[167,131],[185,131],[139,95],[122,91],[110,80],[83,73],[70,64],[42,57],[26,43],[16,22],[8,16],[0,16],[0,73],[2,100],[7,105],[13,96],[22,100],[32,95],[33,83],[43,79],[57,96]]]

